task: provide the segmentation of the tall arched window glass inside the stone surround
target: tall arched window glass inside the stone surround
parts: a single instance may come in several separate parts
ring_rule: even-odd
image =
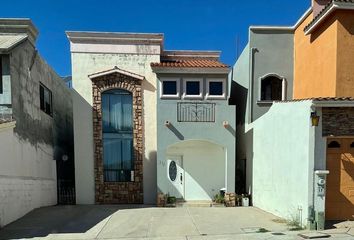
[[[102,93],[103,168],[106,182],[129,182],[133,162],[133,97],[121,89]]]

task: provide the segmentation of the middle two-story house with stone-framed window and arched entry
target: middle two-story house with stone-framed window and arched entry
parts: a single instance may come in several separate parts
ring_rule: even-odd
[[[234,192],[235,107],[219,52],[166,51],[162,34],[67,36],[77,203]]]

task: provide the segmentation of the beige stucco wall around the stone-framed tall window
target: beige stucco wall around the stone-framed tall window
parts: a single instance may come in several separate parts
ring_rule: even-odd
[[[129,49],[132,46],[127,46]],[[72,47],[73,49],[73,47]],[[148,48],[146,48],[148,49]],[[145,77],[144,111],[144,203],[156,198],[156,76],[151,62],[159,62],[159,51],[144,53],[79,53],[72,52],[74,94],[74,136],[76,202],[94,203],[92,85],[89,74],[109,70],[114,66]],[[156,49],[155,49],[156,50]],[[138,51],[139,52],[139,51]]]

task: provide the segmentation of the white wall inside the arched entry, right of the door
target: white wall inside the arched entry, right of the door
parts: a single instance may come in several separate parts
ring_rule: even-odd
[[[221,188],[226,187],[227,158],[223,147],[207,141],[190,140],[171,146],[167,150],[169,155],[182,157],[185,200],[212,200]],[[170,182],[168,166],[165,167],[166,175],[162,179]]]

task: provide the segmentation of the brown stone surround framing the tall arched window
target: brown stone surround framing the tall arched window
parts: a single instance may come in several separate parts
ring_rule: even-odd
[[[133,95],[134,182],[104,182],[101,94],[124,89]],[[143,95],[141,80],[121,73],[92,79],[95,201],[98,204],[143,203]]]

